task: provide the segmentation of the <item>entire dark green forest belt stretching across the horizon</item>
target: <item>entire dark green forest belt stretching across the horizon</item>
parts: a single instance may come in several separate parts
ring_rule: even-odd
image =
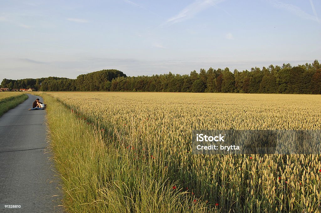
[[[3,79],[3,88],[34,88],[40,91],[136,91],[136,92],[208,92],[208,93],[281,93],[321,94],[321,64],[292,67],[270,65],[231,72],[212,67],[189,75],[162,74],[127,77],[119,70],[100,70],[79,75],[76,79],[37,78]]]

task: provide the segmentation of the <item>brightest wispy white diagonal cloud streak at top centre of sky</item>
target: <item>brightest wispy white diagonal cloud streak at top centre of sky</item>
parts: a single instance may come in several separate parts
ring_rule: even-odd
[[[224,0],[196,0],[192,4],[187,5],[183,10],[178,12],[178,14],[170,17],[165,24],[174,24],[187,19],[191,19],[197,13],[207,9],[208,7],[214,6]]]

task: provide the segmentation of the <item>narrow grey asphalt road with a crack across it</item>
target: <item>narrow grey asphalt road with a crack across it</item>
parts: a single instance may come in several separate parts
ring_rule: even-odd
[[[46,110],[28,111],[36,98],[43,100],[28,96],[0,118],[0,212],[63,212],[59,178],[46,149]]]

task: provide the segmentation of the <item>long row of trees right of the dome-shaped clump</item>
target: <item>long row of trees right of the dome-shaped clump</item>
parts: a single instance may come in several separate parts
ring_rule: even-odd
[[[321,65],[315,60],[295,67],[288,63],[233,73],[229,68],[209,68],[189,75],[121,77],[111,81],[110,91],[321,94]]]

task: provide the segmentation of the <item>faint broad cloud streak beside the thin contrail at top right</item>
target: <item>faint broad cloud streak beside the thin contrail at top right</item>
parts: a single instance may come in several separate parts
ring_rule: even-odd
[[[308,19],[308,20],[313,20],[313,21],[319,22],[319,20],[316,16],[316,13],[314,16],[310,15],[307,12],[304,12],[298,6],[295,6],[293,4],[286,4],[286,3],[275,1],[275,0],[268,0],[268,2],[270,2],[275,8],[287,10],[287,11],[293,13],[294,15],[299,16],[303,19]],[[312,6],[313,5],[312,0],[310,0],[310,3]],[[314,6],[312,6],[312,7],[314,8]]]

